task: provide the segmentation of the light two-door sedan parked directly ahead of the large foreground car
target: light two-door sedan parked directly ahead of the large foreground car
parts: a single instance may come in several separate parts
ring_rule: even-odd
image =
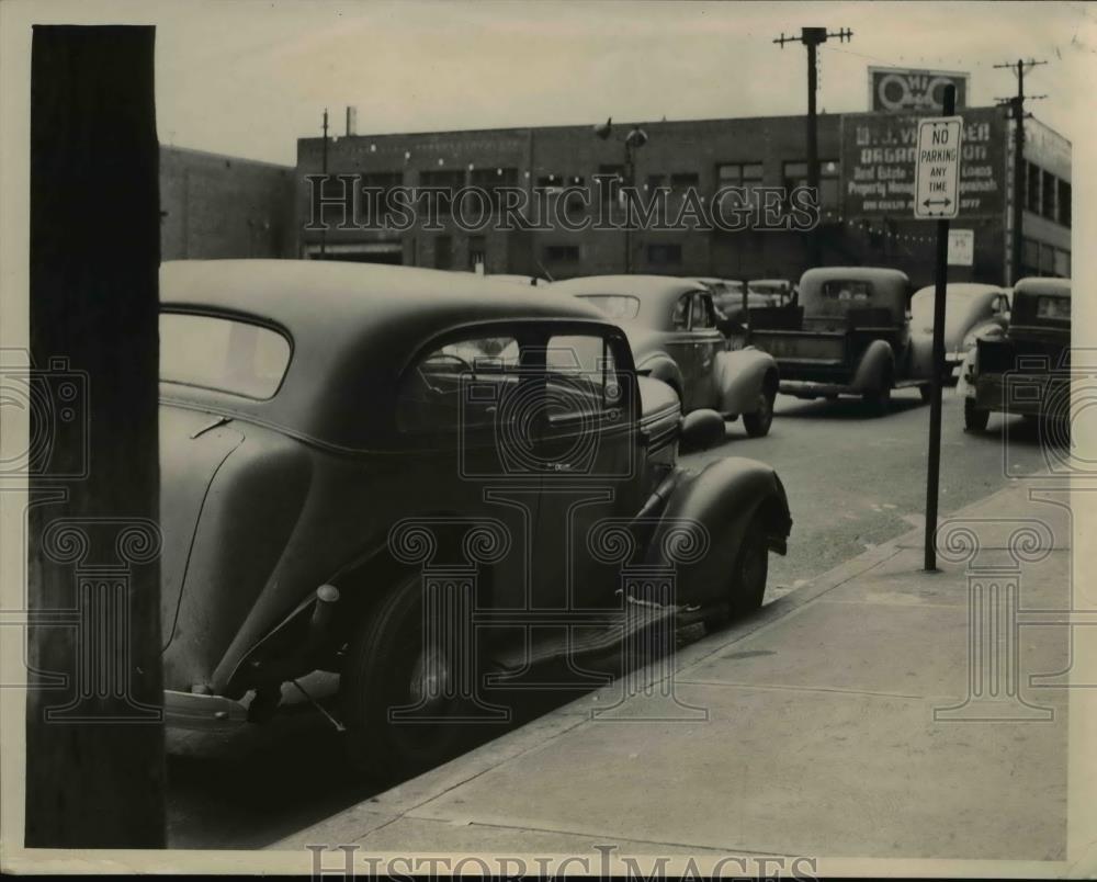
[[[757,349],[727,350],[712,294],[699,281],[591,275],[556,282],[552,290],[620,321],[636,369],[672,386],[685,412],[712,408],[730,420],[742,415],[751,438],[769,432],[780,380],[777,362]]]

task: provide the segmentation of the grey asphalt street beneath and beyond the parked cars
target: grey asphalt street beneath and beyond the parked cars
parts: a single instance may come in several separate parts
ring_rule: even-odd
[[[986,433],[962,430],[959,402],[946,391],[940,513],[948,514],[1044,467],[1041,429],[992,417]],[[859,400],[780,396],[767,438],[731,423],[719,448],[686,457],[749,456],[772,465],[794,519],[787,557],[770,557],[767,601],[923,524],[929,407],[917,391],[896,393],[886,416]],[[519,726],[579,697],[561,690],[524,701]],[[500,734],[500,733],[496,733]],[[319,714],[298,715],[230,738],[169,739],[169,844],[172,848],[248,849],[381,791],[347,770],[339,735]]]

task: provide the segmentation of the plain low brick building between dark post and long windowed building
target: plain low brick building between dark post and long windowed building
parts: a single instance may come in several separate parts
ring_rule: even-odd
[[[163,260],[295,257],[294,169],[160,147]]]

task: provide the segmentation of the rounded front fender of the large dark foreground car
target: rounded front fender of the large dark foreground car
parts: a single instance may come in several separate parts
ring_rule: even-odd
[[[677,603],[726,597],[747,525],[759,514],[770,549],[784,554],[792,528],[777,473],[740,456],[682,473],[645,550],[645,563],[672,570]]]

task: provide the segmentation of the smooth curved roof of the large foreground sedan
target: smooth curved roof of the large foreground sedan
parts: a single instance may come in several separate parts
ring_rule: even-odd
[[[310,260],[169,261],[160,268],[167,312],[251,318],[285,330],[293,352],[265,402],[170,387],[172,399],[367,448],[387,419],[407,362],[431,339],[480,321],[580,320],[612,326],[591,304],[523,291],[513,282],[412,267]],[[363,420],[367,400],[380,418]],[[374,423],[366,429],[365,423]],[[375,439],[374,439],[375,440]]]

